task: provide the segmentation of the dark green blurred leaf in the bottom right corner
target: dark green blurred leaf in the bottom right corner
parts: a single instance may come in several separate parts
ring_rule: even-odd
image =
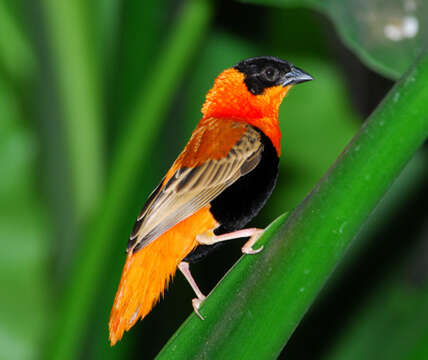
[[[325,359],[426,359],[428,273],[426,230],[416,251],[352,316]],[[419,235],[418,235],[419,237]],[[404,266],[403,266],[404,265]]]

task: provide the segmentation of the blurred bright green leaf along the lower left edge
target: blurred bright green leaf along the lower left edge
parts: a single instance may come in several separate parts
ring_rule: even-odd
[[[39,143],[22,106],[0,79],[0,348],[10,360],[34,359],[48,329],[49,222],[37,185]]]

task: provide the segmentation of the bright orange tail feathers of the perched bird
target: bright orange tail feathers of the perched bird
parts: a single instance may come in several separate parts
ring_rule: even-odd
[[[158,302],[178,264],[197,246],[196,235],[216,226],[208,208],[203,208],[128,255],[110,314],[112,346]]]

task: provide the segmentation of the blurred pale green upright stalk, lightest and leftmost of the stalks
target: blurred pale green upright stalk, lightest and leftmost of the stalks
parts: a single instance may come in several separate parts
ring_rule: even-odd
[[[59,84],[75,211],[85,221],[103,189],[100,67],[82,0],[42,1],[52,66]]]

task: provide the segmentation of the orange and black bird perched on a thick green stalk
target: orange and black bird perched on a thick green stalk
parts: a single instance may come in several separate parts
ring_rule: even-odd
[[[109,321],[113,346],[151,311],[179,269],[199,308],[205,295],[190,272],[224,241],[248,237],[244,254],[263,230],[245,228],[275,187],[281,155],[279,106],[296,84],[313,80],[273,56],[245,59],[221,72],[208,91],[190,140],[148,197],[127,245]]]

